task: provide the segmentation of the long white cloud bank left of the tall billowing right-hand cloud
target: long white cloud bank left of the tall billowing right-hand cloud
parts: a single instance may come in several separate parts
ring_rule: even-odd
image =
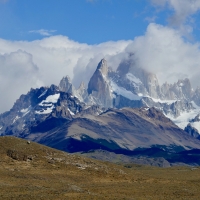
[[[10,109],[31,87],[58,85],[66,75],[76,87],[81,81],[87,85],[102,58],[116,68],[121,61],[120,54],[130,43],[110,41],[88,45],[61,35],[32,42],[0,39],[0,93],[4,95],[0,112]]]

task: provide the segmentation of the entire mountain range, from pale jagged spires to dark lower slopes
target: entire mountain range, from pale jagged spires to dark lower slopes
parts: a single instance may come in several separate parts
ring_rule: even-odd
[[[200,89],[189,79],[159,85],[131,58],[117,70],[102,59],[86,87],[65,76],[58,86],[31,89],[0,115],[0,134],[68,152],[200,149]]]

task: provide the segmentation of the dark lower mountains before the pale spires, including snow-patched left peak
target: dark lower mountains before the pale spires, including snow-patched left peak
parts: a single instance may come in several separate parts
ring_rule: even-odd
[[[68,152],[102,148],[126,154],[155,145],[168,150],[200,148],[199,140],[155,108],[89,106],[54,85],[22,95],[9,112],[0,116],[0,125],[2,135]]]

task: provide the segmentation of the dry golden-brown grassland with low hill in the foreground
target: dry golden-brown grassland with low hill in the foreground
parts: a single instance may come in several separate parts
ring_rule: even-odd
[[[200,168],[127,168],[0,137],[0,199],[197,200],[199,188]]]

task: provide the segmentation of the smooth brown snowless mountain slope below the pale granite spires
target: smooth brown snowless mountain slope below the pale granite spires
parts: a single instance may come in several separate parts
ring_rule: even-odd
[[[74,116],[56,128],[30,132],[26,138],[69,152],[106,149],[128,153],[136,148],[200,148],[200,141],[178,128],[155,108],[108,109],[100,115]]]

